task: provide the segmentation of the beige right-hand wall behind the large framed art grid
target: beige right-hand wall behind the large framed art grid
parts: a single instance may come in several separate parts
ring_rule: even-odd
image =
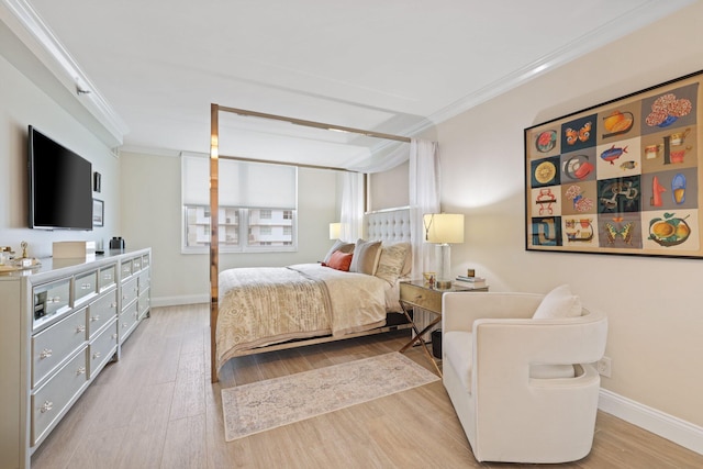
[[[437,129],[443,210],[467,216],[466,243],[451,252],[454,272],[473,267],[493,291],[570,283],[609,315],[612,378],[603,388],[698,432],[703,260],[526,252],[523,130],[703,69],[702,22],[696,2]]]

